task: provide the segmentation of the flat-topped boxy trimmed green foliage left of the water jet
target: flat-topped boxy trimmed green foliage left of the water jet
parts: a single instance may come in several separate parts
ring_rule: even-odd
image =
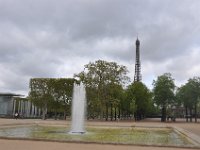
[[[43,119],[47,109],[64,111],[70,109],[70,97],[72,97],[73,83],[71,78],[33,78],[30,79],[29,99],[43,110]],[[70,111],[68,111],[70,112]]]

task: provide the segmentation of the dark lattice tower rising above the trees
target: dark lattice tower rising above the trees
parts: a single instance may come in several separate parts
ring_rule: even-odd
[[[140,82],[142,80],[141,75],[141,62],[140,62],[140,41],[136,40],[136,58],[135,58],[135,75],[134,75],[134,82]]]

